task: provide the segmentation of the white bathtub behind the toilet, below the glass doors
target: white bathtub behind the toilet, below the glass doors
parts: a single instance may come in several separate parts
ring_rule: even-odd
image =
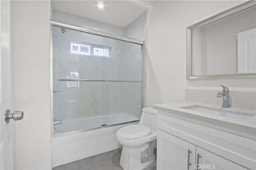
[[[108,126],[101,126],[103,116],[63,120],[62,124],[54,125],[52,167],[122,147],[116,140],[116,131],[139,121],[127,113],[105,118],[108,118]]]

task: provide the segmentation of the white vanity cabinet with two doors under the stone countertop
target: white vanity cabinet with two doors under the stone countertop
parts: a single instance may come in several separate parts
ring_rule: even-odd
[[[256,142],[158,112],[157,157],[158,170],[255,170]]]

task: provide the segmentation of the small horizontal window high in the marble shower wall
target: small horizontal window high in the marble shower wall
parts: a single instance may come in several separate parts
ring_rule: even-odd
[[[97,44],[86,44],[77,41],[71,41],[70,45],[72,54],[112,58],[112,47]]]

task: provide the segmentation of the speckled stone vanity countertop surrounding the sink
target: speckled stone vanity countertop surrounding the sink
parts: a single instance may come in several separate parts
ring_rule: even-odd
[[[201,111],[194,111],[186,109],[186,107],[199,106],[207,107],[210,109],[221,109],[225,111],[239,112],[238,115],[247,115],[248,118],[230,118],[223,115],[204,113]],[[166,113],[171,113],[190,119],[195,119],[198,121],[210,123],[213,125],[218,125],[221,127],[226,127],[234,129],[241,132],[246,132],[250,134],[256,134],[256,110],[241,109],[236,107],[223,108],[222,106],[213,105],[213,104],[204,104],[198,102],[177,102],[177,103],[168,103],[168,104],[158,104],[153,106],[154,109],[158,111],[163,111]]]

